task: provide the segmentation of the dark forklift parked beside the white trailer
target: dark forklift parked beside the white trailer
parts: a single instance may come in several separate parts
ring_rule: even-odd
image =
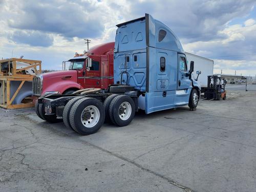
[[[209,75],[207,88],[204,92],[204,99],[220,100],[226,99],[225,78],[218,77],[218,75]]]

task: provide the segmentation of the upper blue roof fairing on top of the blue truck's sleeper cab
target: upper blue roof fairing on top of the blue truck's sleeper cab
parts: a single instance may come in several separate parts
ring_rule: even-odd
[[[142,27],[141,23],[144,23],[144,30],[138,29]],[[175,33],[150,14],[118,24],[117,27],[114,52],[131,51],[135,48],[146,49],[146,46],[149,46],[184,53]],[[163,31],[165,36],[159,41],[159,33]]]

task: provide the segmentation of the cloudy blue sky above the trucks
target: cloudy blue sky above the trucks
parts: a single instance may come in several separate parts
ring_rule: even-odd
[[[0,0],[0,57],[42,60],[42,69],[114,41],[116,24],[152,14],[186,52],[211,58],[215,73],[256,75],[256,1]]]

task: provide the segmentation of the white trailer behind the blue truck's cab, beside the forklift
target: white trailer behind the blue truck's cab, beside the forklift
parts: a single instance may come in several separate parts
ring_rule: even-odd
[[[201,71],[201,75],[198,77],[198,82],[201,85],[202,92],[204,92],[203,88],[207,87],[207,80],[208,80],[208,75],[213,75],[214,73],[214,61],[211,59],[207,59],[205,57],[201,57],[198,55],[194,55],[191,53],[186,53],[186,58],[187,58],[187,63],[188,63],[188,69],[190,65],[190,61],[194,61],[194,72],[192,73],[195,78],[197,78],[197,71]]]

